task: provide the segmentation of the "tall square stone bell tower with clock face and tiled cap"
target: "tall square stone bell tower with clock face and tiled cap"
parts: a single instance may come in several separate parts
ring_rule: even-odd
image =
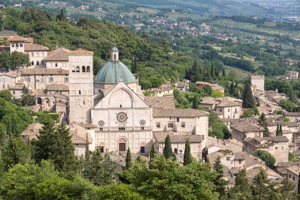
[[[69,122],[89,124],[94,107],[93,52],[78,49],[69,56]]]

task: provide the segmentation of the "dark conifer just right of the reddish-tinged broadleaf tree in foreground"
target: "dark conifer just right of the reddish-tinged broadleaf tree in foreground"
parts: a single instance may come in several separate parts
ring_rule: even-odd
[[[219,200],[226,199],[227,198],[226,185],[229,183],[229,181],[223,179],[224,172],[223,172],[223,166],[221,165],[220,156],[217,157],[213,169],[216,171],[216,178],[212,180],[212,182],[216,186],[215,191],[220,195]]]

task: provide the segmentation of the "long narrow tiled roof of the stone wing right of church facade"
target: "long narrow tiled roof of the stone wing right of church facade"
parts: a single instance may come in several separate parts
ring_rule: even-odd
[[[153,117],[198,117],[209,115],[196,109],[153,109]]]

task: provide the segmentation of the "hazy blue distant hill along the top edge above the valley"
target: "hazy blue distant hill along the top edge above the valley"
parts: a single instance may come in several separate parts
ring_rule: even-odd
[[[182,8],[191,14],[202,14],[203,16],[214,15],[255,15],[265,17],[268,10],[256,4],[240,3],[232,0],[124,0],[144,4],[152,7],[171,7],[173,9]]]

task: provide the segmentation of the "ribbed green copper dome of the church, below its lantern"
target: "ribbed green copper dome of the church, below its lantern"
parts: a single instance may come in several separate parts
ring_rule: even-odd
[[[120,61],[109,61],[98,71],[96,83],[118,83],[122,79],[125,83],[134,83],[134,78],[128,67]]]

